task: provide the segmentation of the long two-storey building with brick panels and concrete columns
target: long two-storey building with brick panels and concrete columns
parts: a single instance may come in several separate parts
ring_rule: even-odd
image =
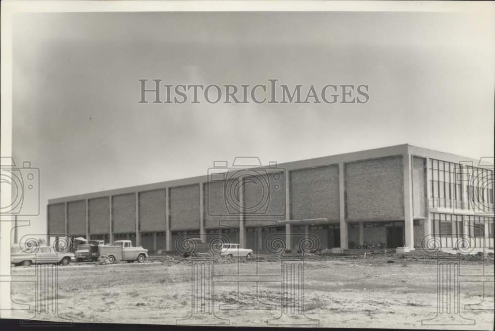
[[[494,247],[494,171],[479,160],[402,144],[266,167],[214,162],[203,176],[54,198],[49,235],[129,238],[174,250],[181,235],[226,236],[263,251],[278,234],[320,248]],[[465,239],[464,239],[465,243]]]

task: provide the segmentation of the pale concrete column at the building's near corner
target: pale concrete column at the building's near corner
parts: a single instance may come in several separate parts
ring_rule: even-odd
[[[412,156],[409,153],[402,155],[404,177],[404,247],[414,249],[414,221],[412,209]]]

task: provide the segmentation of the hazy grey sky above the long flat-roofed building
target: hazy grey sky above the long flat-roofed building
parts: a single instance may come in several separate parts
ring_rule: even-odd
[[[22,14],[13,155],[49,198],[410,143],[493,156],[494,14]],[[169,84],[368,84],[363,104],[138,104]]]

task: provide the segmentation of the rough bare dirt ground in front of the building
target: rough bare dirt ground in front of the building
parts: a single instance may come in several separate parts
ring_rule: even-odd
[[[388,263],[390,259],[394,263]],[[218,262],[214,265],[213,290],[216,318],[213,322],[206,319],[205,323],[266,326],[267,321],[282,315],[285,307],[281,305],[279,277],[282,262],[276,259]],[[493,259],[485,264],[461,261],[460,265],[460,315],[440,314],[443,319],[435,320],[440,325],[428,326],[424,325],[426,320],[437,315],[435,260],[399,259],[397,255],[311,258],[304,262],[306,317],[296,314],[286,323],[341,328],[493,330]],[[12,275],[33,275],[34,270],[34,267],[14,267]],[[58,315],[73,322],[192,324],[192,319],[178,321],[192,314],[191,270],[186,259],[58,267]],[[256,272],[273,275],[257,283],[258,295],[256,283],[233,283],[233,278],[229,283],[225,277],[217,277],[256,275]],[[483,274],[492,276],[480,278]],[[492,282],[485,283],[483,288],[483,282],[479,281],[487,278]],[[251,276],[250,280],[256,277]],[[34,293],[35,283],[12,283],[15,306],[31,305],[30,310],[14,311],[13,318],[35,316]],[[483,298],[481,306],[465,306],[481,303]],[[467,309],[480,307],[485,309]],[[36,315],[36,319],[60,320],[44,314]],[[468,324],[454,326],[454,321]]]

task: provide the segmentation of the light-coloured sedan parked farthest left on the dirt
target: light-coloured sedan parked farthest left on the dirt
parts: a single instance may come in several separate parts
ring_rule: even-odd
[[[18,251],[10,254],[10,263],[13,265],[30,266],[31,264],[61,264],[67,265],[75,260],[73,253],[57,252],[52,247],[41,246],[37,252]]]

